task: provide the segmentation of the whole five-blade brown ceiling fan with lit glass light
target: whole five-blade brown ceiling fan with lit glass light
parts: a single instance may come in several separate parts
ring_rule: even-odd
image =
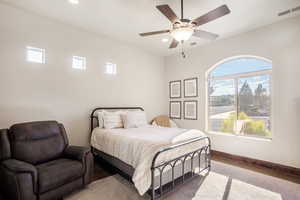
[[[200,37],[209,40],[216,39],[218,37],[217,34],[200,30],[198,29],[198,27],[200,25],[206,24],[208,22],[211,22],[215,19],[218,19],[230,13],[230,10],[227,7],[227,5],[222,5],[194,20],[185,19],[183,17],[183,0],[181,0],[180,19],[176,16],[174,11],[167,4],[156,6],[156,8],[171,21],[172,23],[171,30],[140,33],[140,36],[145,37],[145,36],[169,33],[173,37],[173,41],[169,47],[170,49],[176,48],[179,42],[183,43],[184,41],[189,40],[191,36]]]

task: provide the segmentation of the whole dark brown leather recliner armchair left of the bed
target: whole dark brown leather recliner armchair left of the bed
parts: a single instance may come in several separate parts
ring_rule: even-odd
[[[15,124],[0,130],[0,188],[4,199],[54,200],[89,184],[90,148],[69,146],[56,121]]]

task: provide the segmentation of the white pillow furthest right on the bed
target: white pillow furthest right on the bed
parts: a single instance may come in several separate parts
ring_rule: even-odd
[[[146,113],[143,111],[129,111],[122,115],[124,128],[138,128],[147,126]]]

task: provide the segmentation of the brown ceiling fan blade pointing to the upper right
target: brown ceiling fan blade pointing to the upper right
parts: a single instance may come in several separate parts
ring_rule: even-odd
[[[223,17],[224,15],[227,15],[230,12],[231,11],[227,7],[227,5],[223,5],[223,6],[220,6],[216,9],[206,13],[205,15],[202,15],[201,17],[198,17],[193,22],[195,22],[197,26],[200,26],[200,25],[206,24],[210,21],[213,21],[215,19],[218,19],[220,17]]]

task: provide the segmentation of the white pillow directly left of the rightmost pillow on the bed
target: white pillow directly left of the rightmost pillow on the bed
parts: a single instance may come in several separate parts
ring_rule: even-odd
[[[123,121],[121,115],[124,112],[117,111],[117,112],[108,112],[103,111],[103,126],[106,129],[112,128],[123,128]]]

